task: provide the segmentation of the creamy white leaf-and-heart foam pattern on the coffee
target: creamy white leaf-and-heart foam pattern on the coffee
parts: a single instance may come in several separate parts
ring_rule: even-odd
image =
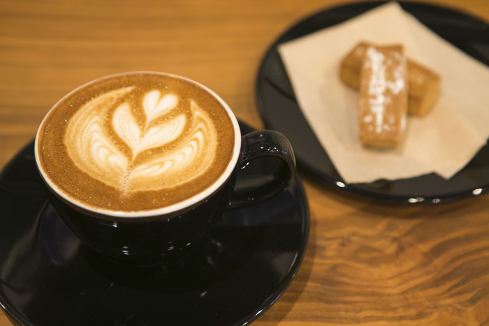
[[[182,103],[176,94],[158,90],[147,92],[143,103],[123,102],[111,112],[132,90],[126,87],[98,96],[71,117],[64,144],[75,166],[124,195],[199,177],[217,149],[217,131],[207,113],[194,101]],[[133,114],[137,110],[143,121]],[[143,156],[149,149],[156,151]]]

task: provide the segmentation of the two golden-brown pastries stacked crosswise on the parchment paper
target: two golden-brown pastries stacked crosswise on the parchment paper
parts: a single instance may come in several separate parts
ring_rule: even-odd
[[[408,59],[402,45],[360,42],[346,54],[340,79],[358,89],[358,128],[366,147],[402,145],[407,114],[423,117],[440,93],[440,77]]]

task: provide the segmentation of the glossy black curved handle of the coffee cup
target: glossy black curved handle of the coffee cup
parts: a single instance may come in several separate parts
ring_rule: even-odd
[[[259,158],[259,159],[258,159]],[[229,207],[252,205],[284,191],[295,177],[291,143],[277,131],[242,136]]]

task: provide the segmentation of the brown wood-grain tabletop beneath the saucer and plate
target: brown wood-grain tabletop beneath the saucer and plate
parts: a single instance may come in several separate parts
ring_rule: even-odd
[[[268,45],[302,17],[345,2],[1,0],[0,168],[57,99],[122,71],[191,77],[261,128],[254,79]],[[487,0],[427,2],[489,21]],[[303,181],[307,255],[256,325],[489,324],[488,195],[399,207]],[[10,325],[3,313],[0,325]]]

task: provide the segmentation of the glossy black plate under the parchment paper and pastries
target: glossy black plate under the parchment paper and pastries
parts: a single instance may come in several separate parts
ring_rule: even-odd
[[[394,181],[346,184],[302,115],[277,52],[277,45],[344,22],[383,3],[352,3],[321,11],[294,24],[275,40],[263,57],[256,78],[256,102],[265,126],[289,138],[301,168],[335,188],[396,203],[449,202],[486,192],[489,186],[487,144],[463,170],[449,180],[429,174]],[[400,4],[439,36],[489,65],[489,25],[486,22],[449,8],[425,3]]]

